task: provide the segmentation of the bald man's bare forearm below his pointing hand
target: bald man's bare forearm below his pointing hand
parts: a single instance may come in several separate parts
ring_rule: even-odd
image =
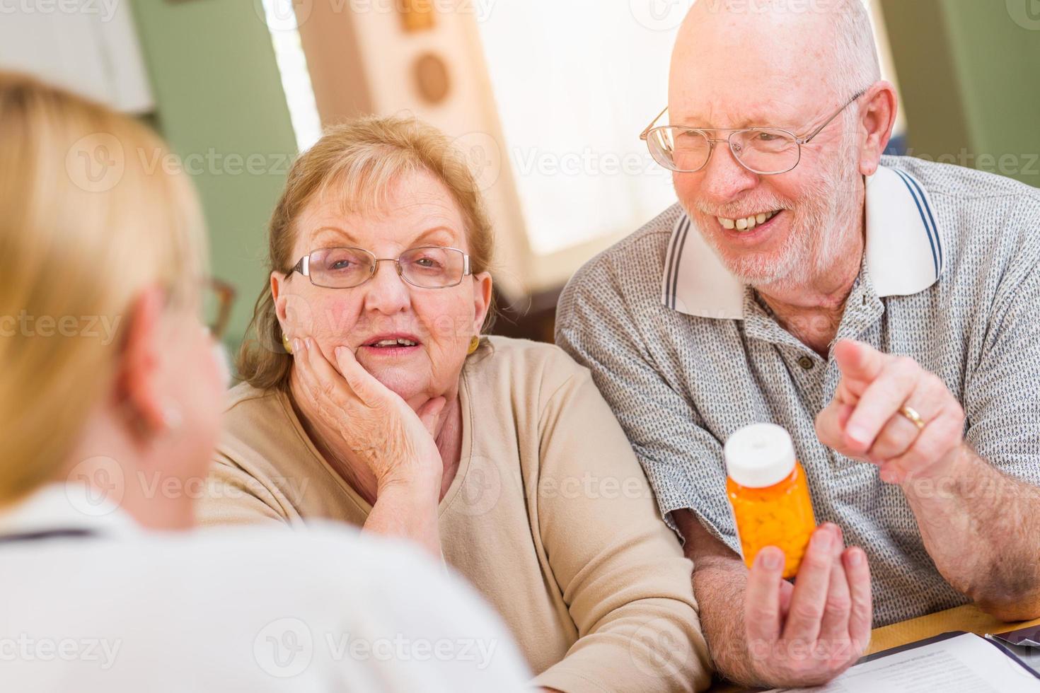
[[[935,475],[903,483],[943,578],[1005,620],[1040,616],[1040,488],[962,445]]]

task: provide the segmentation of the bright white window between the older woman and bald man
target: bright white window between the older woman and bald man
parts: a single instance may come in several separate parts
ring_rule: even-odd
[[[648,27],[633,4],[499,2],[479,24],[537,256],[630,233],[675,201],[639,133],[667,99],[684,12]]]

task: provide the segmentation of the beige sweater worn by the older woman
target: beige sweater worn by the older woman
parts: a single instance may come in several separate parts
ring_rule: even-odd
[[[504,618],[536,686],[706,688],[692,565],[589,372],[554,346],[491,344],[462,374],[462,458],[440,504],[445,560]],[[226,431],[204,524],[364,524],[371,506],[284,393],[238,385]]]

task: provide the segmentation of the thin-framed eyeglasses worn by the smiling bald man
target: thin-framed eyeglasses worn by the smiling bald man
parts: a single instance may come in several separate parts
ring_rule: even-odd
[[[782,128],[693,128],[686,126],[654,127],[668,110],[666,107],[640,135],[647,143],[650,156],[665,168],[679,174],[696,174],[708,165],[716,144],[727,142],[737,163],[753,174],[777,176],[792,170],[802,160],[802,145],[811,142],[841,111],[866,94],[863,89],[834,111],[812,133],[799,137]],[[712,138],[709,133],[728,132],[726,139]]]

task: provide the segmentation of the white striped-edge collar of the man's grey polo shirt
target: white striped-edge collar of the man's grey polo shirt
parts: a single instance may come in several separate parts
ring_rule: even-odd
[[[878,297],[910,296],[939,279],[941,234],[934,206],[917,179],[879,166],[866,179],[866,267]],[[661,301],[679,313],[744,319],[745,286],[723,265],[690,217],[672,232],[661,279]]]

